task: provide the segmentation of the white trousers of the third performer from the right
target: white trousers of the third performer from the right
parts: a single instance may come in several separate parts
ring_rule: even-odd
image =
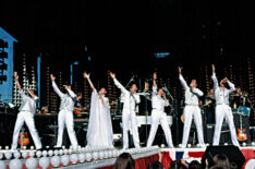
[[[151,146],[156,132],[158,130],[158,124],[161,124],[163,133],[166,135],[166,140],[168,143],[168,147],[173,147],[172,145],[172,134],[168,124],[168,120],[167,120],[167,114],[163,111],[160,110],[156,110],[154,109],[151,111],[151,126],[150,126],[150,132],[149,132],[149,137],[148,137],[148,142],[147,142],[147,146]]]

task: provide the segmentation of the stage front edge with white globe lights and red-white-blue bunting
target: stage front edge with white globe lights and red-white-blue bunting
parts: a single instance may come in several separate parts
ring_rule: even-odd
[[[31,153],[32,152],[32,153]],[[146,166],[153,161],[159,159],[159,152],[162,155],[162,165],[165,168],[168,168],[172,160],[177,158],[183,158],[187,162],[192,160],[201,161],[205,148],[159,148],[157,146],[150,148],[131,148],[131,149],[117,149],[117,148],[107,148],[107,149],[85,149],[78,148],[78,150],[72,152],[70,149],[62,150],[41,150],[40,153],[36,150],[21,150],[20,155],[17,152],[13,150],[0,150],[0,168],[1,165],[5,165],[8,169],[10,166],[19,166],[22,165],[22,169],[26,169],[26,165],[37,166],[36,169],[51,169],[54,168],[64,168],[64,169],[92,169],[92,168],[101,168],[101,169],[111,169],[113,168],[113,164],[118,155],[123,152],[127,152],[132,154],[132,157],[135,159],[135,168],[144,169]],[[255,158],[255,147],[254,146],[245,146],[241,147],[241,152],[245,157],[245,164],[252,158]],[[13,154],[13,155],[10,155]],[[62,155],[60,155],[62,154]],[[32,158],[31,156],[35,156],[38,158]],[[8,157],[9,156],[9,157]],[[19,157],[20,159],[14,159]],[[39,157],[40,156],[40,157]],[[24,158],[25,157],[25,158]],[[4,159],[3,159],[4,158]],[[7,159],[9,158],[9,159]],[[95,160],[96,159],[96,160]],[[14,160],[16,160],[14,162]],[[29,162],[28,162],[29,160]],[[40,167],[44,166],[44,167]],[[17,167],[19,168],[19,167]],[[33,167],[32,167],[33,168]]]

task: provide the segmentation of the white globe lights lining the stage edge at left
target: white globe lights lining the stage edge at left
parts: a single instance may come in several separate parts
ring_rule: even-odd
[[[34,146],[31,147],[31,150],[25,150],[25,152],[10,152],[9,147],[5,146],[5,153],[4,157],[10,160],[12,158],[12,154],[14,156],[14,159],[10,160],[9,167],[10,169],[21,169],[23,164],[19,159],[21,156],[26,159],[25,160],[25,166],[27,169],[36,169],[37,162],[39,162],[39,166],[42,169],[46,169],[50,164],[52,167],[59,167],[60,164],[63,166],[69,166],[70,162],[71,165],[76,165],[76,164],[83,164],[85,161],[97,161],[97,160],[102,160],[102,159],[108,159],[108,158],[116,158],[122,153],[130,153],[131,155],[134,154],[141,154],[141,153],[148,153],[153,150],[157,150],[159,147],[158,146],[153,146],[153,147],[142,147],[142,148],[130,148],[130,149],[116,149],[113,147],[95,147],[95,148],[85,148],[78,146],[77,149],[73,149],[70,147],[70,149],[66,149],[64,146],[62,149],[49,149],[49,150],[34,150]],[[1,149],[1,147],[0,147]],[[26,149],[26,147],[24,147]],[[37,161],[36,158],[39,158],[39,161]],[[42,157],[41,157],[42,156]],[[47,157],[48,156],[48,157]],[[50,158],[49,158],[50,157]],[[0,153],[0,169],[5,168],[5,164],[3,160],[3,154]]]

